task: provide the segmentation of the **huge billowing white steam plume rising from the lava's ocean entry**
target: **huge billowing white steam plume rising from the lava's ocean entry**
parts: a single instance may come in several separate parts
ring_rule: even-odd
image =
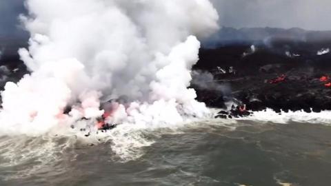
[[[208,0],[28,0],[31,34],[19,54],[32,72],[8,82],[0,134],[42,134],[81,117],[101,101],[126,95],[110,121],[157,125],[203,117],[190,69],[200,43],[218,29]],[[195,37],[194,37],[194,36]],[[63,114],[66,105],[74,105]]]

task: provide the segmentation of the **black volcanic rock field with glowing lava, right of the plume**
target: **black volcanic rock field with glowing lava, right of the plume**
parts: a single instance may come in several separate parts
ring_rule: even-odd
[[[320,81],[321,76],[331,77],[331,54],[317,55],[321,48],[331,48],[331,41],[316,39],[325,37],[318,37],[317,32],[309,34],[316,34],[315,39],[309,42],[287,39],[270,45],[255,45],[256,51],[246,56],[243,53],[252,43],[201,49],[194,70],[208,71],[214,75],[215,82],[230,85],[234,102],[246,105],[247,110],[265,110],[266,107],[275,112],[331,110],[331,79]],[[232,68],[235,73],[221,73],[220,68]],[[203,91],[197,89],[199,101],[210,107],[224,107],[225,104],[218,103],[222,101],[219,94],[208,92],[208,97],[218,98],[208,100],[203,97]],[[232,116],[240,115],[232,113]]]

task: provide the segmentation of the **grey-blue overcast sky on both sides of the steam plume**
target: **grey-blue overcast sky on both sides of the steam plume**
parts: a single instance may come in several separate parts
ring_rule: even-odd
[[[23,35],[18,16],[24,0],[0,1],[0,37]],[[159,1],[159,0],[158,0]],[[330,0],[211,0],[219,24],[234,28],[276,27],[331,30]]]

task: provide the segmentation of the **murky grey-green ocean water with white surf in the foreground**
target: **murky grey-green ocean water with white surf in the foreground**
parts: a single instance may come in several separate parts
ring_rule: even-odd
[[[325,124],[212,120],[116,130],[3,136],[0,185],[331,185]]]

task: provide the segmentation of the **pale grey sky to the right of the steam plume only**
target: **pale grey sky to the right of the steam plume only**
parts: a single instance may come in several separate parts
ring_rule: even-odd
[[[212,0],[219,23],[234,28],[299,27],[307,30],[331,30],[329,0]]]

